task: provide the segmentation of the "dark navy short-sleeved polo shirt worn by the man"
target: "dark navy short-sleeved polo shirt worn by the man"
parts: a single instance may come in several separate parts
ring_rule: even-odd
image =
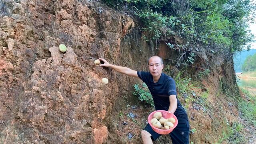
[[[177,97],[176,86],[173,78],[162,72],[158,82],[154,83],[153,76],[150,72],[137,71],[137,74],[148,86],[154,100],[156,110],[168,111],[170,106],[169,96],[174,94]],[[177,117],[179,123],[186,122],[188,120],[186,111],[180,104],[178,98],[177,102],[177,109],[174,112],[174,115]]]

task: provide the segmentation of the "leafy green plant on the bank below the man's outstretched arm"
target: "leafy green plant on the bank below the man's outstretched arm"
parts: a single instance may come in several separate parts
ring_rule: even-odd
[[[135,92],[133,92],[132,94],[134,96],[138,96],[138,99],[141,102],[146,102],[146,104],[150,104],[151,106],[154,106],[152,95],[148,90],[148,86],[144,82],[141,84],[141,86],[139,86],[138,84],[135,84],[134,89],[135,89]]]

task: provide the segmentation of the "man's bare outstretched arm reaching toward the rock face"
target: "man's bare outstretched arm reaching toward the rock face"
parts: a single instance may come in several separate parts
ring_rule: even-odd
[[[123,66],[116,66],[116,65],[113,65],[113,64],[109,64],[104,58],[99,58],[99,60],[103,61],[104,64],[100,64],[100,66],[105,66],[105,67],[108,67],[108,68],[112,68],[122,74],[126,74],[128,76],[133,76],[133,77],[136,77],[136,78],[139,78],[138,77],[138,74],[137,74],[137,71],[135,70],[132,70],[130,68],[126,68],[126,67],[123,67]]]

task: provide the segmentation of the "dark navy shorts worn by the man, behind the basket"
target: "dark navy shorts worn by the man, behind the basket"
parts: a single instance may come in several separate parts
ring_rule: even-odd
[[[148,124],[144,130],[149,132],[151,139],[155,141],[161,134],[156,133]],[[178,123],[176,128],[169,134],[172,138],[172,144],[188,144],[189,143],[189,122]]]

